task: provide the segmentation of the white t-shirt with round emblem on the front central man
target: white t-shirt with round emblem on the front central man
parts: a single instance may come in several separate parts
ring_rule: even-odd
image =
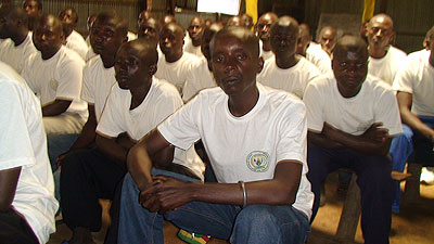
[[[301,162],[302,179],[293,207],[310,218],[314,194],[306,178],[305,105],[288,92],[257,87],[259,99],[242,117],[230,113],[228,95],[220,88],[210,88],[166,119],[158,131],[181,149],[202,139],[220,183],[272,179],[279,162]]]

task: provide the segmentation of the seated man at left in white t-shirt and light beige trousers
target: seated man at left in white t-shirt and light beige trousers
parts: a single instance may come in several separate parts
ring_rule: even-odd
[[[63,39],[62,22],[51,14],[43,15],[33,36],[39,52],[23,67],[23,77],[41,101],[53,169],[55,157],[64,151],[53,152],[52,145],[64,143],[64,150],[68,149],[87,120],[87,104],[80,100],[85,61],[62,46]]]

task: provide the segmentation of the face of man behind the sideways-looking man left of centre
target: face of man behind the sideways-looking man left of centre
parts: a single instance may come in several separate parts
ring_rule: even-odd
[[[115,18],[100,17],[94,21],[90,31],[90,44],[93,52],[101,56],[114,56],[125,40]]]

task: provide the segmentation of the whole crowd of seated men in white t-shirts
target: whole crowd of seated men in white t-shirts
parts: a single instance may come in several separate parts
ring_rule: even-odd
[[[0,240],[47,243],[61,215],[64,243],[94,243],[104,198],[105,243],[164,243],[164,220],[190,243],[305,243],[326,177],[349,168],[365,242],[388,243],[392,172],[434,142],[434,27],[407,56],[386,14],[318,43],[272,12],[184,29],[142,11],[135,34],[102,11],[86,39],[77,22],[0,8]]]

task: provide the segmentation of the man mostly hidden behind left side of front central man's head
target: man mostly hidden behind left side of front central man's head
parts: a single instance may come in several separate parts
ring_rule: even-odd
[[[222,29],[224,26],[219,23],[213,23],[209,27],[206,27],[202,35],[201,50],[203,56],[200,60],[200,64],[190,76],[187,78],[186,84],[182,89],[182,100],[184,102],[192,99],[199,91],[216,87],[217,84],[214,80],[213,72],[210,69],[210,53],[209,53],[209,42],[214,35]]]

